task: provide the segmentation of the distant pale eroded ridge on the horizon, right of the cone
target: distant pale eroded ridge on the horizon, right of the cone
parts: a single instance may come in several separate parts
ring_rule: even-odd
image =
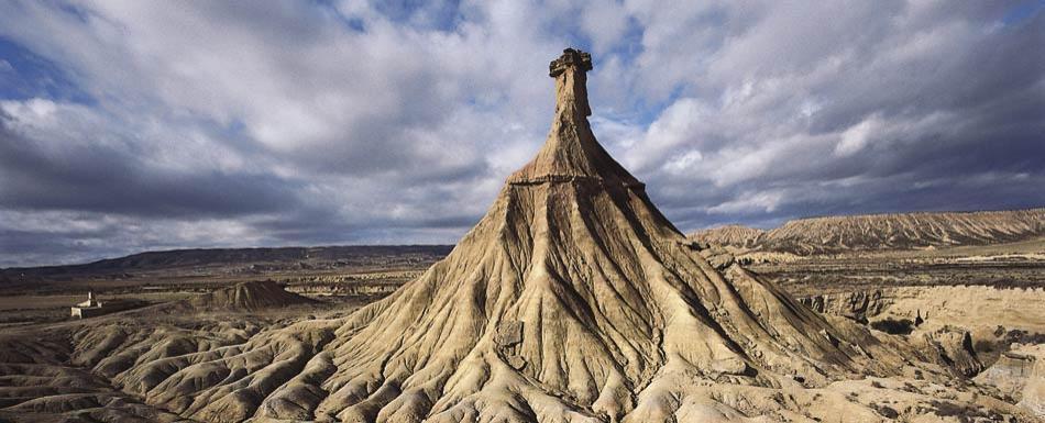
[[[988,245],[1045,236],[1045,208],[810,218],[770,231],[728,225],[690,236],[710,244],[799,255]]]

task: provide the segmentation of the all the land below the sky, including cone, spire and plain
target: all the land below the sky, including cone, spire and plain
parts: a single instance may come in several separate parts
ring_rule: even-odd
[[[591,56],[455,246],[0,271],[0,421],[1037,422],[1043,210],[690,236],[598,144]],[[90,290],[133,308],[73,320]]]

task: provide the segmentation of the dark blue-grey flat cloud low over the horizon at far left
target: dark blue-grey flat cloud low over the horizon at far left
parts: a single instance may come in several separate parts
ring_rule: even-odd
[[[0,207],[200,218],[279,212],[299,203],[301,183],[271,174],[165,170],[112,146],[48,152],[41,144],[0,122]]]

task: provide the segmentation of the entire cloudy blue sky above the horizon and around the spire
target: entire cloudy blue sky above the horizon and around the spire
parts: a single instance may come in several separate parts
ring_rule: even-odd
[[[682,231],[1045,205],[1045,0],[0,1],[0,267],[452,244],[548,63]]]

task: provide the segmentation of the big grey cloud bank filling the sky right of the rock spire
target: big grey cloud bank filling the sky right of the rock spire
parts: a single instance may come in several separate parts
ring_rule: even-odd
[[[792,5],[680,82],[703,96],[626,140],[681,227],[1045,203],[1045,59],[1027,54],[1045,40],[1040,10],[1001,22],[1012,4]],[[806,12],[832,22],[787,24]]]

